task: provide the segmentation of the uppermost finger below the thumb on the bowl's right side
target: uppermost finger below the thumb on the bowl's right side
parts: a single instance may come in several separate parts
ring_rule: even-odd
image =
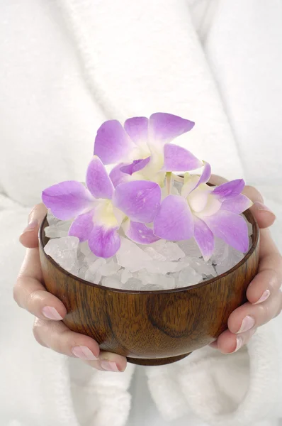
[[[282,282],[282,257],[271,239],[269,229],[262,229],[259,250],[259,272],[247,288],[251,303],[264,302]]]

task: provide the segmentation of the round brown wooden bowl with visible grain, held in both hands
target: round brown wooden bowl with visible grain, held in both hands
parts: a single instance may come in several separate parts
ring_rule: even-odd
[[[252,248],[234,268],[203,283],[175,290],[105,288],[64,271],[47,256],[44,229],[39,248],[45,287],[67,308],[64,324],[93,337],[104,351],[140,365],[169,364],[213,342],[227,329],[231,312],[246,302],[259,263],[259,228],[252,213]]]

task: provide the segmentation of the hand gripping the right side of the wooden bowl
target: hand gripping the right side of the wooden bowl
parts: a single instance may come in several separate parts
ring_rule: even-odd
[[[227,180],[213,175],[210,182],[215,185]],[[222,354],[231,354],[249,342],[256,328],[277,317],[282,308],[282,258],[271,239],[269,226],[275,215],[263,204],[264,200],[254,187],[246,186],[243,191],[252,202],[252,214],[259,224],[259,271],[247,288],[247,303],[232,312],[228,329],[210,344]]]

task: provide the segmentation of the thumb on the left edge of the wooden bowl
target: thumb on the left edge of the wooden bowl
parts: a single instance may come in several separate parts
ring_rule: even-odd
[[[23,233],[20,236],[20,243],[28,249],[38,247],[39,226],[46,213],[47,209],[42,202],[40,204],[36,204],[31,210],[28,216],[28,226],[23,229]]]

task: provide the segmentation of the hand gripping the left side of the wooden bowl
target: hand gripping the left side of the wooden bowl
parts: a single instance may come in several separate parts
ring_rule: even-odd
[[[100,351],[89,336],[72,332],[62,322],[67,310],[63,303],[43,285],[38,249],[38,230],[46,214],[44,204],[37,204],[30,213],[28,226],[20,236],[27,248],[26,257],[13,288],[13,297],[20,307],[35,315],[33,334],[42,346],[60,354],[81,359],[101,371],[124,371],[125,356]]]

